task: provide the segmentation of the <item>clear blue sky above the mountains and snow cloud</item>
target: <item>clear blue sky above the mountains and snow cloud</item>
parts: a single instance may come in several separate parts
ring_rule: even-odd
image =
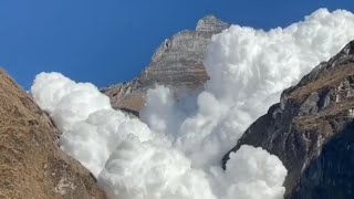
[[[25,88],[58,71],[98,87],[128,81],[159,43],[212,13],[261,29],[287,27],[339,0],[1,0],[0,65]]]

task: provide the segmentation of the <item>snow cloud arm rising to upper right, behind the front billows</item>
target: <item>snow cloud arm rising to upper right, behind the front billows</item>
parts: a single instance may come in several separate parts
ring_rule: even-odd
[[[315,11],[302,22],[268,32],[231,25],[214,35],[208,48],[205,65],[210,80],[195,100],[198,111],[180,114],[188,108],[180,108],[186,103],[179,100],[179,104],[160,105],[163,109],[177,107],[168,113],[178,115],[149,108],[142,119],[155,130],[159,129],[154,123],[173,124],[164,130],[178,135],[174,144],[192,159],[192,166],[219,165],[247,127],[279,102],[284,88],[354,39],[352,27],[353,13],[343,10],[331,13],[326,9]],[[150,104],[147,101],[146,107]],[[174,121],[180,125],[176,127]]]

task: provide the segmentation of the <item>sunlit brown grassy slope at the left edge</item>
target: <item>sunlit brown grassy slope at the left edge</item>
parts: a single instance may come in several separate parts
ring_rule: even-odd
[[[103,199],[92,175],[56,145],[46,114],[0,70],[0,198]]]

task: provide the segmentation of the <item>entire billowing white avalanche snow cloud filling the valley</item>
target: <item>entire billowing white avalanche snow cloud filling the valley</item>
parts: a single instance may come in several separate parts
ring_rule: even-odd
[[[278,157],[242,146],[226,170],[220,160],[282,90],[354,38],[351,27],[351,12],[325,9],[268,32],[231,25],[209,45],[205,91],[178,102],[165,86],[148,91],[146,124],[59,73],[39,74],[31,92],[62,130],[61,148],[113,199],[280,199]]]

